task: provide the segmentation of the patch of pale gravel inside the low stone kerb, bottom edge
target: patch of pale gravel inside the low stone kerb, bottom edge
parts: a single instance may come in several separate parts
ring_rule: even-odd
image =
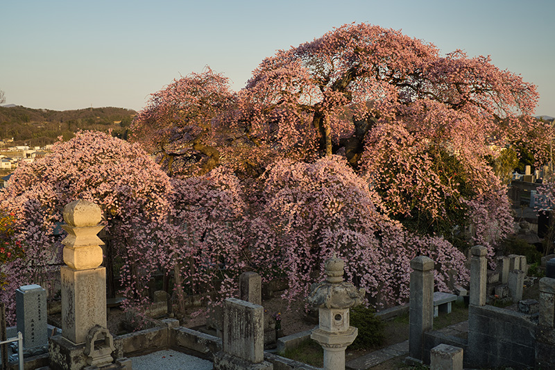
[[[212,362],[171,349],[131,358],[133,370],[212,370]]]

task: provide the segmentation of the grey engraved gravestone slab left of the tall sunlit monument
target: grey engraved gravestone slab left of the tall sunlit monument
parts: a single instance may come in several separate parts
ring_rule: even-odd
[[[40,285],[24,285],[15,290],[17,331],[23,333],[25,349],[46,346],[46,290]]]

